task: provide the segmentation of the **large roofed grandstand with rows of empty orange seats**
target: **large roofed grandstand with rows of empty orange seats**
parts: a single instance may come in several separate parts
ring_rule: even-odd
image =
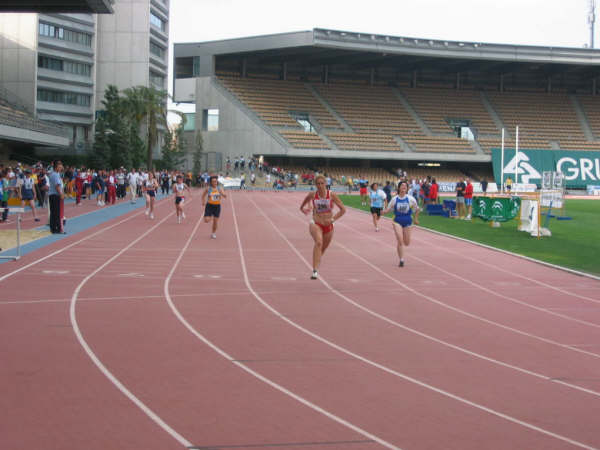
[[[503,128],[507,148],[519,126],[521,149],[600,151],[598,56],[314,29],[175,44],[174,97],[224,158],[487,178]]]

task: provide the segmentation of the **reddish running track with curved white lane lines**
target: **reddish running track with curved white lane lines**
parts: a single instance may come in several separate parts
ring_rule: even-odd
[[[600,282],[354,210],[311,281],[301,198],[0,265],[0,448],[600,448]]]

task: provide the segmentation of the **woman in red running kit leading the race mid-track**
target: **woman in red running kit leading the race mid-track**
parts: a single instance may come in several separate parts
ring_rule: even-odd
[[[308,225],[308,231],[315,241],[313,247],[313,272],[311,279],[316,280],[318,270],[321,264],[321,258],[331,244],[333,239],[333,224],[336,220],[346,213],[346,207],[339,197],[331,191],[328,191],[327,181],[323,175],[315,178],[316,191],[309,192],[300,205],[300,211],[304,214],[313,212],[313,218]],[[312,204],[312,208],[309,207]],[[333,214],[333,205],[336,205],[339,211]]]

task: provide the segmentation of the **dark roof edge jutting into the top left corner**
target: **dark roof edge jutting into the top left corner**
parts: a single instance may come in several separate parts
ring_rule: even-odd
[[[113,13],[114,0],[2,0],[0,12]]]

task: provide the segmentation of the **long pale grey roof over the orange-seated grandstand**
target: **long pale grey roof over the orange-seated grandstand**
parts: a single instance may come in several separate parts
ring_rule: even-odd
[[[600,50],[595,49],[449,41],[321,28],[221,41],[176,43],[173,56],[175,59],[214,56],[221,62],[248,58],[261,64],[386,66],[402,71],[439,69],[514,73],[534,70],[550,76],[562,72],[586,78],[600,76]],[[211,70],[214,67],[203,64],[198,75],[211,75]]]

